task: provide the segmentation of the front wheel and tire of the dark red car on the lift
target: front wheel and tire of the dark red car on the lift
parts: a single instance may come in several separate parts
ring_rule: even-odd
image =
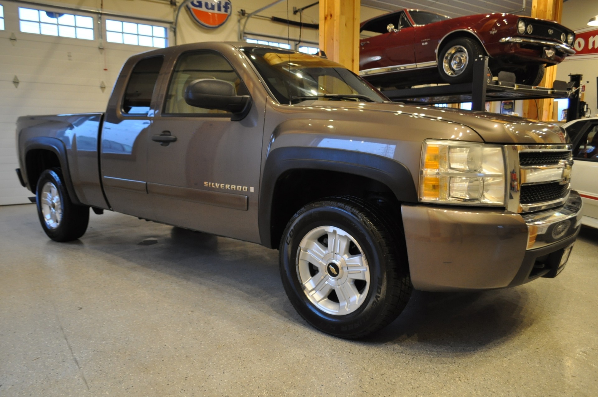
[[[483,56],[481,44],[469,37],[452,39],[438,54],[438,73],[444,83],[471,83],[474,75],[474,60]]]

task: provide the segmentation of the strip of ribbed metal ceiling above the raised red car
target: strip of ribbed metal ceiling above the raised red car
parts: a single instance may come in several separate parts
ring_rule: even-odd
[[[489,13],[529,16],[532,0],[361,0],[361,5],[385,11],[418,8],[449,17]]]

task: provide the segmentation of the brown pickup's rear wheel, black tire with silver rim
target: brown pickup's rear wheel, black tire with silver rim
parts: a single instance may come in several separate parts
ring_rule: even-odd
[[[87,230],[89,207],[72,203],[59,168],[41,173],[35,201],[39,222],[50,239],[57,242],[77,240]]]

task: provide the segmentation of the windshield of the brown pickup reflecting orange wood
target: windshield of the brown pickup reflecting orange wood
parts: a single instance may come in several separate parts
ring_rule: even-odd
[[[353,72],[328,59],[279,48],[244,47],[241,50],[280,103],[388,100]]]

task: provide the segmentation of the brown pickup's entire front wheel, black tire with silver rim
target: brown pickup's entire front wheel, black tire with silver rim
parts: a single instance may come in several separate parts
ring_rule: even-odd
[[[295,213],[280,242],[279,259],[286,294],[301,317],[327,334],[356,339],[383,328],[402,312],[411,295],[412,286],[404,239],[392,219],[392,216],[383,213],[373,204],[347,197],[316,201]],[[334,232],[322,231],[321,228],[324,227],[329,227]],[[323,234],[318,238],[319,233]],[[333,253],[342,250],[329,249],[328,237],[334,238],[335,242],[342,243],[341,237],[350,241],[344,243],[348,248],[344,251],[346,255],[342,256],[343,260],[335,262],[340,254],[334,256],[336,254]],[[327,251],[319,264],[306,260],[306,249],[300,247],[302,240],[304,245],[309,245],[306,242],[317,241]],[[353,262],[353,266],[356,263],[351,258],[361,258],[365,266],[354,267],[351,273],[349,262]],[[316,261],[315,258],[312,260]],[[336,264],[338,266],[334,267]],[[307,282],[304,281],[307,279],[306,270],[309,270],[310,276]],[[333,274],[338,278],[335,279]],[[350,274],[353,276],[349,276]],[[361,276],[369,281],[352,279]],[[313,288],[312,291],[315,292],[309,298],[304,283],[321,285],[322,288]],[[334,283],[338,286],[332,286]],[[316,293],[325,290],[328,292],[316,296]],[[355,304],[352,307],[348,307],[350,304],[343,306],[343,302],[349,299],[339,298],[337,292],[341,297],[354,293]],[[336,312],[335,308],[338,309]]]

